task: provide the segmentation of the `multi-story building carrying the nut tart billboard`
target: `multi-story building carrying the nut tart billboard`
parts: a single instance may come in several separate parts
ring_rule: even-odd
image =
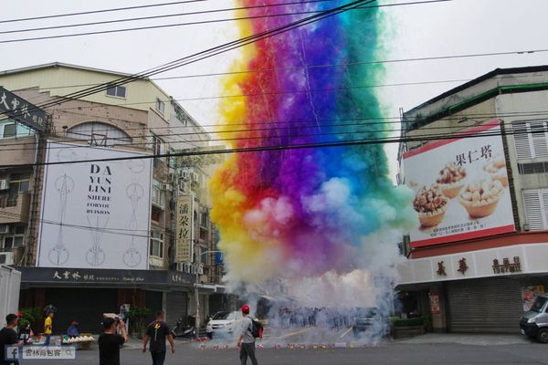
[[[452,332],[519,331],[548,290],[548,66],[496,69],[408,110],[416,227],[398,288]]]

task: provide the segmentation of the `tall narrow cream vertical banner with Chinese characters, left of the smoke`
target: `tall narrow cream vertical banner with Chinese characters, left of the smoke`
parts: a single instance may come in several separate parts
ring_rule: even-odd
[[[186,194],[177,199],[175,262],[192,260],[194,196]]]

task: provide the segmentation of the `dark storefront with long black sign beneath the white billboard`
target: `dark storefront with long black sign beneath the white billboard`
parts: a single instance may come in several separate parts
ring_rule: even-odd
[[[57,269],[20,267],[20,308],[58,308],[54,331],[61,333],[76,320],[83,332],[100,331],[102,313],[130,308],[163,309],[170,324],[187,316],[188,293],[195,276],[160,270]],[[40,325],[37,324],[39,331]]]

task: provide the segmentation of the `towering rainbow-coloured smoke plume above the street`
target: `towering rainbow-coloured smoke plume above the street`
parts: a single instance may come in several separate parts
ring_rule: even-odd
[[[342,5],[303,1],[237,17],[323,11],[335,3]],[[249,36],[302,17],[238,24],[241,36]],[[378,57],[381,22],[377,8],[350,10],[242,48],[234,70],[261,71],[226,80],[226,94],[245,97],[223,102],[218,134],[233,139],[232,148],[386,137],[390,128],[378,119],[374,89],[354,88],[379,82],[383,68],[326,66]],[[234,281],[349,273],[364,266],[362,249],[376,244],[372,235],[414,218],[412,193],[393,186],[382,144],[235,153],[210,189],[227,279]]]

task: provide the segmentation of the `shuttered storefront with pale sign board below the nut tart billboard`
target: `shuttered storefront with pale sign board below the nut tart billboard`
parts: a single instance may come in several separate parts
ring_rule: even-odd
[[[531,244],[408,260],[397,289],[427,296],[436,330],[517,333],[548,290],[546,257],[548,244]]]

